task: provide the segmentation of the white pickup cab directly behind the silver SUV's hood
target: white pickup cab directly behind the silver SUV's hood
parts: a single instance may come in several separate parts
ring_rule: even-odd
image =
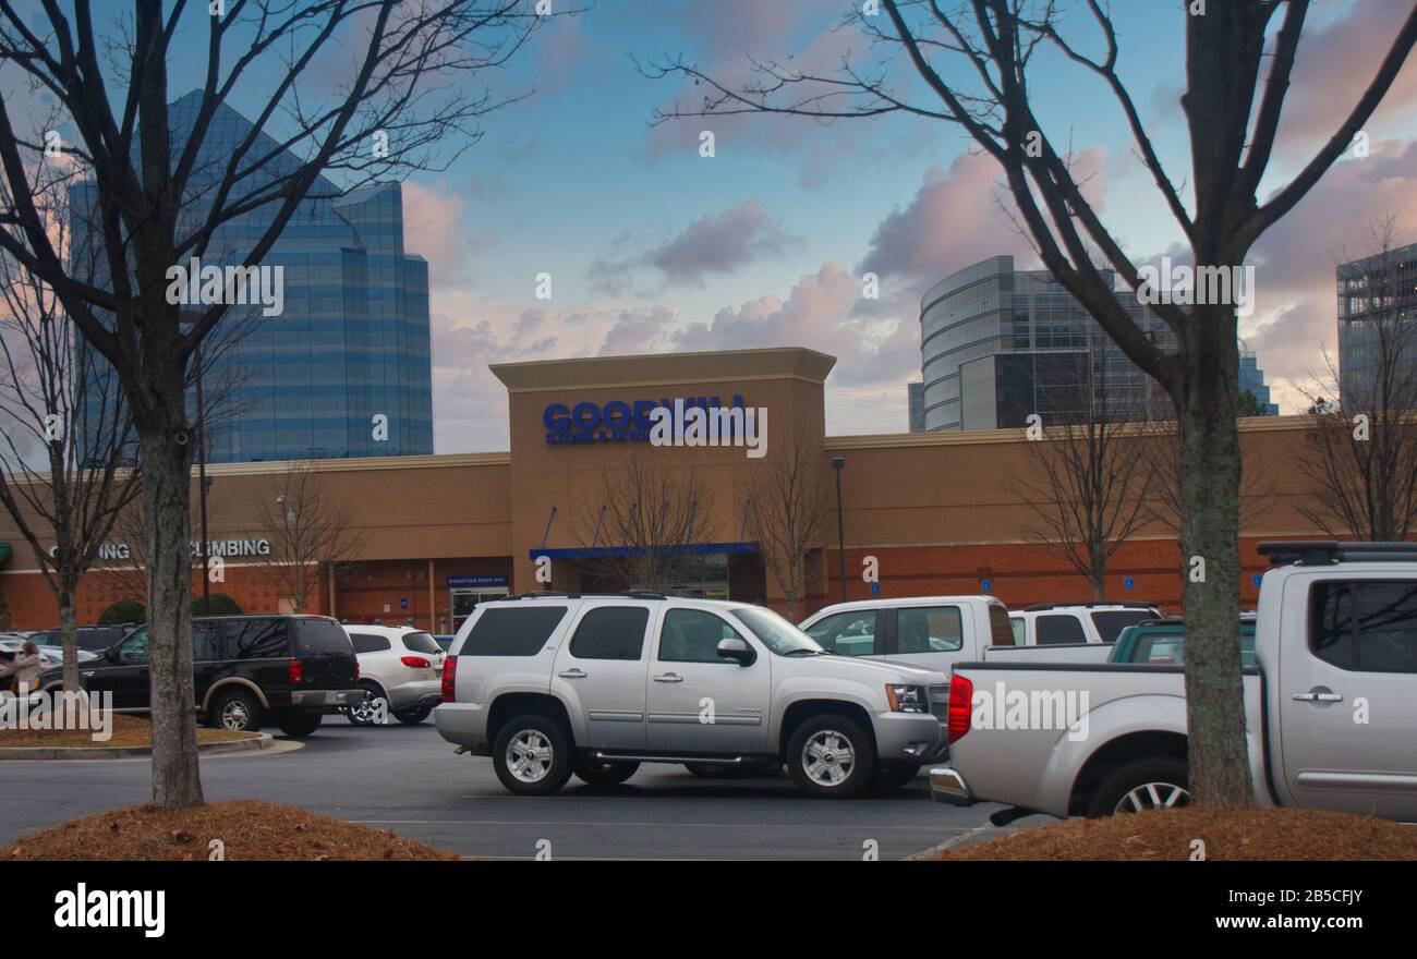
[[[948,673],[982,659],[986,646],[1012,646],[1009,611],[993,596],[913,596],[823,606],[802,632],[840,656],[890,659]]]

